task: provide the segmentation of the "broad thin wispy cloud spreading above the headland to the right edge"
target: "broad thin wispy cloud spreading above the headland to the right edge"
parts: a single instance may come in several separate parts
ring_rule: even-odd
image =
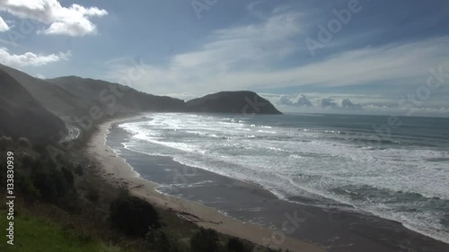
[[[407,86],[425,83],[430,67],[449,69],[449,44],[441,43],[442,38],[349,50],[306,64],[313,58],[298,39],[304,32],[302,22],[300,13],[277,13],[259,24],[216,30],[204,45],[172,56],[166,66],[143,65],[146,74],[134,87],[152,93],[204,94],[303,85]],[[298,60],[301,55],[306,61]],[[282,66],[285,62],[290,65]],[[129,68],[132,65],[114,68],[102,77],[117,81]]]

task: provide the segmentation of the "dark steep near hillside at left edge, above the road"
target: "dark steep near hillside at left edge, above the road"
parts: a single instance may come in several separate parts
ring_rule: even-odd
[[[45,109],[20,83],[0,69],[0,135],[17,139],[27,137],[32,143],[49,143],[66,130],[59,117]]]

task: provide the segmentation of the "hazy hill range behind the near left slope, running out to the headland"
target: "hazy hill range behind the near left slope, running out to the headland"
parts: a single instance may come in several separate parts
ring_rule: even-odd
[[[269,100],[252,91],[222,91],[185,102],[136,91],[119,83],[76,76],[42,80],[6,65],[0,65],[0,69],[20,83],[45,109],[66,122],[75,116],[89,115],[93,107],[109,116],[139,112],[281,114]]]

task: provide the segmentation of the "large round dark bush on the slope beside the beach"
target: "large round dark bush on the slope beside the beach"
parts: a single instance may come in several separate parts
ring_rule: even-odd
[[[135,196],[120,196],[110,204],[110,222],[132,237],[145,237],[148,230],[161,227],[153,205]]]

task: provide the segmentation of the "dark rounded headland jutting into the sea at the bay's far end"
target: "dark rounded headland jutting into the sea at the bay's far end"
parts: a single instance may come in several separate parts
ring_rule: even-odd
[[[253,91],[221,91],[189,100],[188,111],[209,113],[282,114]]]

